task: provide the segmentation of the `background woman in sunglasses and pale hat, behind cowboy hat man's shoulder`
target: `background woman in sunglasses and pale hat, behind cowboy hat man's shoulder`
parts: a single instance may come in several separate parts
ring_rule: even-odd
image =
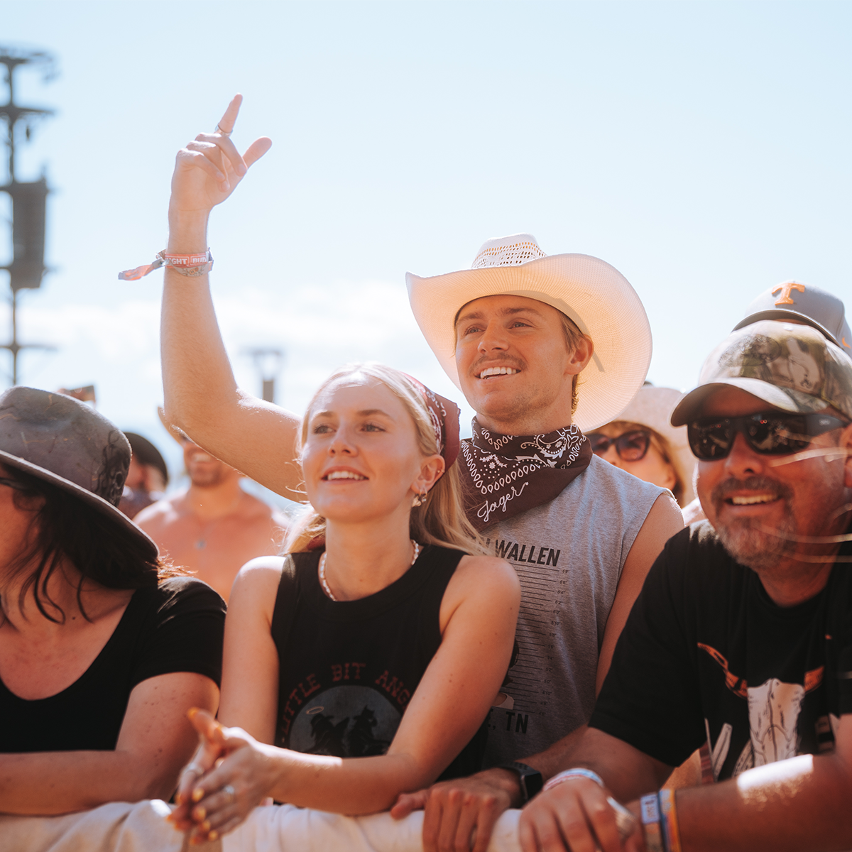
[[[686,427],[669,423],[682,396],[673,388],[654,388],[646,383],[619,420],[586,437],[596,456],[641,480],[669,488],[684,509],[695,497],[695,458],[689,451]],[[694,520],[688,518],[690,523]]]

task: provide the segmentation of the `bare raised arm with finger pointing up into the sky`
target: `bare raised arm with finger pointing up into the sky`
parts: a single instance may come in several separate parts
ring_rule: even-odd
[[[236,95],[214,133],[199,134],[177,153],[168,255],[207,250],[210,210],[233,193],[272,145],[262,137],[239,154],[230,135],[241,103],[242,95]],[[294,462],[299,419],[237,386],[208,278],[165,268],[160,333],[166,417],[216,458],[294,498],[302,481]]]

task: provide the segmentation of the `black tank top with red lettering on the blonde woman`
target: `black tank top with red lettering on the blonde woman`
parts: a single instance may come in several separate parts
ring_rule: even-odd
[[[279,657],[275,745],[305,754],[388,751],[402,714],[440,646],[440,602],[464,556],[427,545],[400,579],[358,601],[331,601],[320,551],[285,557],[272,620]],[[483,722],[440,777],[481,769]]]

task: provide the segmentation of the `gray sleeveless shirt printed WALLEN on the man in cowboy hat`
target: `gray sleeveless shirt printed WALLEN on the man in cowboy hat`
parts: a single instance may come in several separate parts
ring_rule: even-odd
[[[621,569],[664,493],[593,456],[550,503],[483,531],[521,579],[518,659],[509,699],[488,717],[486,767],[544,751],[589,721]]]

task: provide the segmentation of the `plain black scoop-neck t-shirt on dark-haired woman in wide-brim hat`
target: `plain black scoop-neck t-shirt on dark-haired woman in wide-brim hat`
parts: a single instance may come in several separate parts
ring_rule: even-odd
[[[0,681],[0,753],[112,751],[137,683],[173,671],[221,681],[224,624],[225,602],[200,580],[135,590],[101,653],[70,687],[27,701]]]

